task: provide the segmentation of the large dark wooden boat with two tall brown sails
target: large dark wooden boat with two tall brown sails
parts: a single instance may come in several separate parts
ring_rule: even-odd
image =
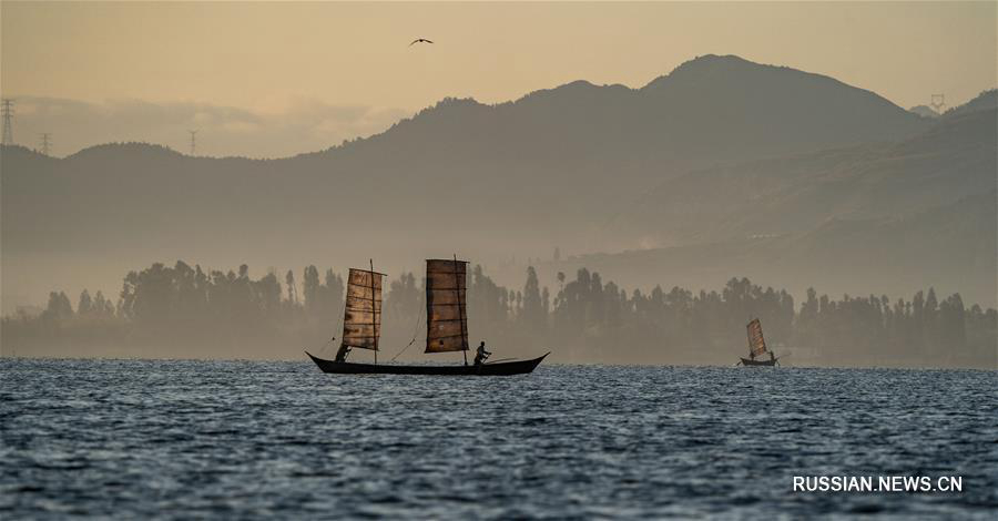
[[[347,278],[343,338],[335,360],[305,354],[323,372],[346,375],[476,375],[503,376],[531,372],[550,353],[531,360],[468,365],[468,314],[466,308],[468,262],[427,259],[426,262],[426,353],[464,351],[464,366],[378,365],[381,333],[381,277],[367,269],[350,269]],[[370,349],[374,364],[346,361],[349,349]]]

